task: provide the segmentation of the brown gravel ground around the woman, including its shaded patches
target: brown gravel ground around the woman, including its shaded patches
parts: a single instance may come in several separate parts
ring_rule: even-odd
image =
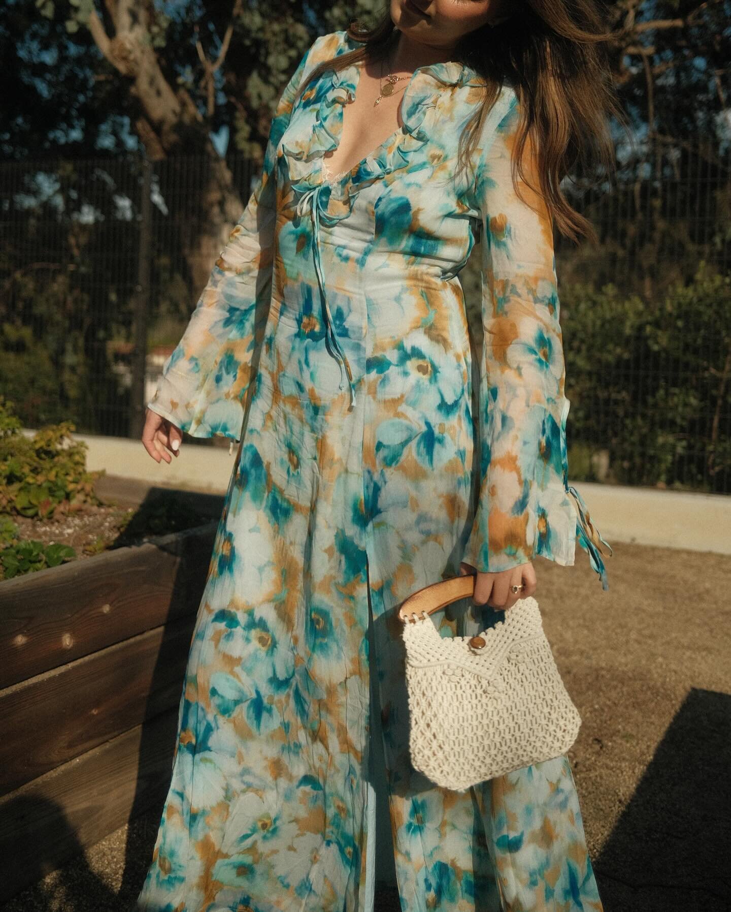
[[[604,910],[731,912],[731,558],[617,544],[608,592],[578,549],[577,561],[537,561],[536,596],[582,714],[569,756]],[[159,819],[109,835],[5,912],[130,912]],[[376,912],[397,909],[379,893]]]

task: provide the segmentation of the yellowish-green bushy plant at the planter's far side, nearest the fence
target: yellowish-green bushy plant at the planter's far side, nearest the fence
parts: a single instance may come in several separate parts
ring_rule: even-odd
[[[53,516],[60,505],[99,503],[87,472],[87,445],[72,440],[74,425],[62,422],[26,437],[13,404],[0,397],[0,513]]]

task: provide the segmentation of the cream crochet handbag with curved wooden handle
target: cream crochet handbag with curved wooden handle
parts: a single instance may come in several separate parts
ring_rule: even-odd
[[[457,576],[426,586],[398,610],[407,650],[411,762],[457,792],[560,756],[582,724],[532,596],[476,637],[441,637],[429,615],[472,596],[475,579]]]

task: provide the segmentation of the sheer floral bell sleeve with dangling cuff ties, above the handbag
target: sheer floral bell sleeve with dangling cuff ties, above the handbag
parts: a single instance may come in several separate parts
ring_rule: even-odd
[[[541,555],[573,565],[575,544],[608,589],[602,544],[569,484],[565,367],[551,213],[511,177],[518,98],[491,131],[475,183],[481,229],[483,346],[479,364],[479,496],[463,561],[499,573]],[[531,140],[525,175],[540,188]]]

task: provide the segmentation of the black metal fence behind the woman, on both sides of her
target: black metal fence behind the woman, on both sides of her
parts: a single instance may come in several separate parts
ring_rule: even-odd
[[[26,426],[139,435],[254,176],[237,156],[0,165],[0,395]],[[566,192],[600,237],[556,237],[571,476],[728,492],[731,155],[658,145]],[[478,256],[461,277],[476,322]]]

